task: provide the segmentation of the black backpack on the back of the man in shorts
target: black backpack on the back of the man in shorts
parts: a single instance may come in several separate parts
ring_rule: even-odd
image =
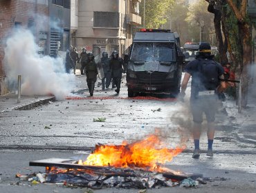
[[[211,59],[199,59],[199,72],[201,83],[206,90],[215,90],[219,85],[219,73],[217,63]]]

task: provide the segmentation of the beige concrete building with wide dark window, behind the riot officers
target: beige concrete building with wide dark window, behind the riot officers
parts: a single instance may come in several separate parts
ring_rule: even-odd
[[[111,54],[113,50],[118,50],[121,56],[131,44],[134,27],[141,24],[140,2],[79,0],[78,28],[72,35],[72,45],[78,51],[86,48],[95,55],[103,51]]]

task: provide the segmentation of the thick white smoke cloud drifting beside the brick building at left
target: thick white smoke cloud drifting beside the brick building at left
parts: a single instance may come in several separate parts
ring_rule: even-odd
[[[17,83],[21,75],[21,94],[53,94],[57,100],[64,99],[75,88],[75,76],[65,73],[61,58],[40,56],[33,34],[18,30],[6,41],[4,64],[9,83]]]

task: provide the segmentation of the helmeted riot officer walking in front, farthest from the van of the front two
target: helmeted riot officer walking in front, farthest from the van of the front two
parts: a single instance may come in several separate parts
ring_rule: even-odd
[[[93,96],[93,90],[95,86],[95,81],[97,81],[98,70],[92,52],[88,53],[88,61],[85,64],[85,70],[86,82],[89,88],[90,96]]]

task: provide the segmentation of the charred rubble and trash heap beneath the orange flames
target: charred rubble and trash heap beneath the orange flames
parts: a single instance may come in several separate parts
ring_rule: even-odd
[[[161,187],[196,187],[201,184],[206,184],[202,178],[196,180],[190,177],[183,179],[183,181],[172,181],[166,177],[166,174],[158,172],[150,172],[145,170],[131,170],[120,168],[109,168],[108,170],[96,171],[93,170],[64,170],[62,168],[55,168],[47,173],[33,173],[29,175],[16,175],[20,181],[28,181],[31,185],[38,183],[55,183],[57,185],[64,185],[66,187],[86,187],[85,192],[93,192],[104,187],[117,187],[131,189],[140,189],[140,193],[145,192],[147,188],[161,188]],[[209,180],[209,179],[208,179]]]

